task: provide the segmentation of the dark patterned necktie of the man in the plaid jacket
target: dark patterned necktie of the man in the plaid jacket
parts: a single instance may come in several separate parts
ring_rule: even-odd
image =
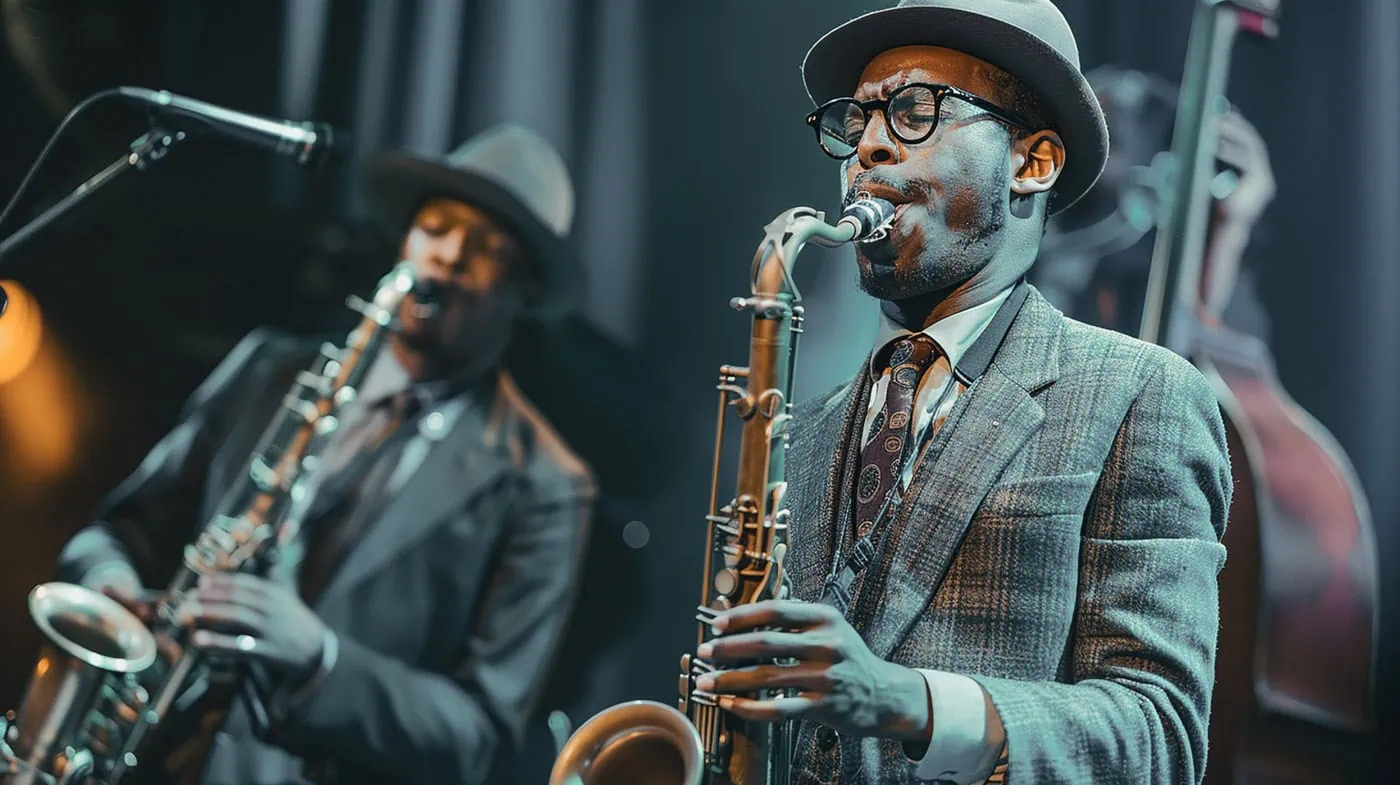
[[[861,472],[855,480],[857,537],[875,530],[875,516],[885,505],[885,497],[899,484],[904,458],[914,441],[910,434],[918,382],[937,357],[938,347],[923,333],[900,339],[889,355],[885,407],[871,423],[871,437],[861,449]]]

